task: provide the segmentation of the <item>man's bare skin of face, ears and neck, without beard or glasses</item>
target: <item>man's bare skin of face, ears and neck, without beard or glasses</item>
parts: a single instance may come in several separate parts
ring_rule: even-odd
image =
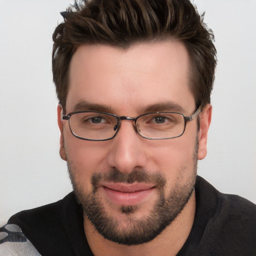
[[[127,50],[107,45],[81,45],[72,56],[70,83],[66,100],[66,113],[77,110],[78,103],[100,104],[107,112],[136,117],[148,105],[172,102],[179,105],[184,115],[191,115],[195,101],[189,90],[189,57],[182,43],[164,41],[140,43]],[[81,110],[88,110],[84,105]],[[104,110],[104,109],[99,109]],[[171,111],[175,109],[160,109]],[[196,118],[187,122],[182,136],[173,139],[148,140],[134,130],[130,121],[123,120],[117,135],[107,141],[87,141],[74,137],[68,122],[61,122],[61,106],[57,107],[61,131],[60,156],[72,166],[73,181],[84,193],[92,191],[90,182],[94,173],[105,173],[117,168],[128,174],[135,168],[148,173],[161,173],[165,179],[164,195],[174,186],[182,188],[194,175],[194,147],[198,138],[197,159],[206,155],[207,131],[211,119],[211,105]],[[100,188],[98,198],[107,214],[115,217],[120,228],[126,230],[128,221],[121,214],[118,203],[111,201]],[[157,200],[152,189],[137,204],[133,216],[146,216]],[[128,200],[129,202],[129,200]],[[94,255],[175,255],[185,242],[192,227],[195,195],[192,193],[185,207],[158,236],[139,245],[122,245],[103,238],[84,217],[84,231]]]

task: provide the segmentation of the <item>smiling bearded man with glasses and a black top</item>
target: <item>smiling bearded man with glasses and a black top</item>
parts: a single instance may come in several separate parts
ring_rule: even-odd
[[[52,70],[74,192],[13,215],[0,252],[255,255],[255,205],[196,175],[216,51],[191,3],[92,0],[63,16]]]

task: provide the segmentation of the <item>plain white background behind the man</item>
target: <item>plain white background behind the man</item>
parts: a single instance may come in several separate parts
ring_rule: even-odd
[[[71,191],[51,75],[51,35],[68,2],[0,0],[0,224]],[[256,1],[195,3],[218,52],[208,155],[198,173],[256,202]]]

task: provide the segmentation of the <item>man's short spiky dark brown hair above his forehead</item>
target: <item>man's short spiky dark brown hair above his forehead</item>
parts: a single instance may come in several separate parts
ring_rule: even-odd
[[[190,89],[195,103],[210,102],[216,66],[212,31],[189,0],[83,0],[61,13],[53,33],[52,72],[65,108],[69,63],[81,44],[128,48],[139,42],[175,39],[190,57]]]

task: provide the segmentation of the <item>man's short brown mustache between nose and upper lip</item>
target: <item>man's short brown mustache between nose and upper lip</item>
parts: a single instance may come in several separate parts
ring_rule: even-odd
[[[91,177],[91,184],[96,189],[100,182],[114,183],[153,183],[155,187],[163,187],[166,183],[165,177],[161,173],[149,173],[144,169],[134,169],[129,173],[123,173],[117,168],[112,168],[105,173],[94,173]]]

